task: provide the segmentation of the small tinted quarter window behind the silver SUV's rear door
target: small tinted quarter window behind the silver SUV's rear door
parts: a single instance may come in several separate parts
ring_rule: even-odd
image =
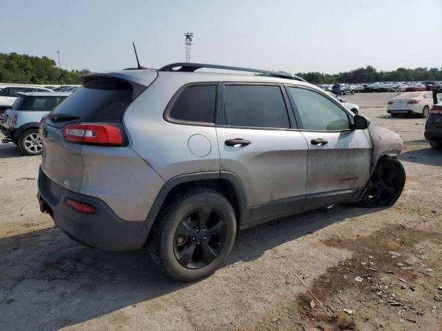
[[[176,99],[169,117],[179,121],[213,123],[216,86],[189,86]]]

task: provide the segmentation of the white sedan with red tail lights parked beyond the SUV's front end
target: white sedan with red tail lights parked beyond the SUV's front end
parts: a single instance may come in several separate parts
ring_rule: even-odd
[[[432,92],[406,92],[388,101],[387,112],[392,116],[419,114],[421,117],[428,117],[432,106]]]

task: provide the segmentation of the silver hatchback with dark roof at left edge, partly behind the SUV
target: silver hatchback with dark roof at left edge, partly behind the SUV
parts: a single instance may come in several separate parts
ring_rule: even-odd
[[[28,155],[39,155],[43,145],[39,137],[41,118],[66,99],[70,92],[28,92],[17,94],[12,108],[2,114],[2,143],[15,143]]]

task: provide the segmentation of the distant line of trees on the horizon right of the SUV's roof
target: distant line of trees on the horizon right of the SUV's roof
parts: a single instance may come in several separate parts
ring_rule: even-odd
[[[296,74],[309,83],[374,83],[376,81],[442,81],[442,68],[398,68],[393,71],[377,71],[373,66],[358,68],[338,74],[300,72]]]

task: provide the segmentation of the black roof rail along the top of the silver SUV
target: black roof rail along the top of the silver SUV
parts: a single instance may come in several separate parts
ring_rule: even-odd
[[[173,68],[181,67],[180,69],[173,70]],[[261,70],[261,69],[251,69],[242,67],[231,67],[231,66],[219,66],[218,64],[206,64],[206,63],[189,63],[189,62],[177,62],[171,63],[164,66],[158,71],[172,71],[172,72],[194,72],[195,70],[201,68],[211,68],[211,69],[222,69],[222,70],[233,70],[233,71],[246,71],[246,72],[256,72],[258,74],[264,74],[266,76],[285,78],[285,79],[296,79],[297,81],[305,81],[305,79],[296,76],[295,74],[289,74],[288,72]]]

